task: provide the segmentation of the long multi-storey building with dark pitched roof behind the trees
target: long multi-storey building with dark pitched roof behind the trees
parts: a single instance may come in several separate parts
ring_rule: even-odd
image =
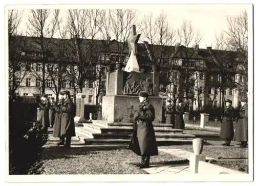
[[[30,37],[22,37],[24,41],[32,42]],[[60,40],[60,39],[53,39]],[[65,40],[65,42],[69,42]],[[101,97],[105,91],[105,72],[106,70],[114,70],[115,64],[122,61],[125,66],[129,58],[129,48],[127,44],[122,44],[123,48],[120,52],[118,46],[120,43],[116,40],[101,41],[109,45],[108,52],[98,55],[94,61],[93,71],[101,69],[97,77],[89,78],[84,81],[82,93],[85,97],[85,104],[96,104],[101,102]],[[30,44],[31,46],[31,44]],[[39,96],[41,92],[41,75],[42,64],[40,61],[34,60],[40,56],[40,52],[33,51],[33,48],[20,47],[19,60],[22,59],[25,64],[19,69],[18,73],[26,71],[26,75],[22,78],[19,87],[16,90],[20,96]],[[164,48],[161,49],[161,48]],[[236,60],[236,52],[214,50],[211,47],[206,49],[195,47],[186,48],[180,44],[175,46],[155,46],[147,42],[137,44],[137,58],[141,71],[152,70],[152,66],[158,65],[161,72],[160,78],[160,96],[163,97],[163,104],[167,99],[176,100],[177,98],[186,98],[189,110],[204,110],[210,108],[222,107],[223,99],[231,99],[234,107],[237,107],[241,96],[245,95],[238,84],[243,82],[243,70],[237,70],[240,62]],[[161,54],[162,52],[162,54]],[[121,58],[120,60],[120,53]],[[55,54],[55,52],[52,52]],[[157,55],[156,55],[157,54]],[[157,56],[157,57],[156,57]],[[13,59],[13,58],[12,58]],[[56,59],[56,58],[55,58]],[[9,60],[10,61],[10,60]],[[107,61],[101,63],[100,61]],[[154,61],[154,63],[152,63]],[[71,96],[74,95],[74,84],[68,76],[71,73],[72,62],[67,61],[47,61],[46,62],[46,89],[45,93],[49,97],[56,97],[55,89],[70,90]],[[59,74],[51,76],[52,71],[60,71],[61,83],[54,85],[59,81]],[[96,70],[97,71],[97,70]],[[98,70],[99,72],[99,70]],[[229,75],[227,75],[229,74]],[[21,80],[19,75],[14,77],[16,84]],[[100,87],[100,88],[99,88]],[[78,87],[76,87],[78,90]],[[99,92],[99,93],[98,93]],[[242,93],[242,94],[241,94]]]

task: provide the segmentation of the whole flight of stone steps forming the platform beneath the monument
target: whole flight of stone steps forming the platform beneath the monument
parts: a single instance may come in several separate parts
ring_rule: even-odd
[[[158,145],[180,145],[192,143],[194,135],[183,134],[170,124],[153,124]],[[133,135],[132,123],[111,123],[93,120],[76,127],[76,134],[85,144],[129,144]]]

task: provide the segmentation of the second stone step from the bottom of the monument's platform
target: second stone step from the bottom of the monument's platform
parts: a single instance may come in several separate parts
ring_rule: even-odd
[[[131,139],[132,134],[92,134],[94,139]],[[156,139],[193,139],[194,135],[159,134]]]

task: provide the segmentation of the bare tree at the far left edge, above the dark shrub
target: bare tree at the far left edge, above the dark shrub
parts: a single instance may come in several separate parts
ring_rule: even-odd
[[[9,98],[15,99],[16,90],[27,74],[22,62],[22,37],[17,36],[18,28],[23,17],[23,11],[8,11],[8,53],[9,53]],[[24,43],[25,44],[25,43]]]

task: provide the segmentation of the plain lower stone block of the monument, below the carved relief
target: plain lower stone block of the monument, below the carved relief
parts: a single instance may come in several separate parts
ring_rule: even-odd
[[[155,109],[153,123],[162,121],[162,98],[148,97]],[[106,95],[102,97],[102,120],[108,122],[131,123],[139,109],[139,97],[129,95]]]

